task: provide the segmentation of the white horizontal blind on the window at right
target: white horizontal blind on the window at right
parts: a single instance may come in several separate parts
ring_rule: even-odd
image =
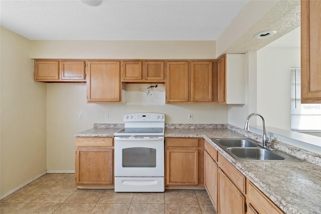
[[[291,130],[321,131],[321,104],[301,104],[300,68],[291,68]]]

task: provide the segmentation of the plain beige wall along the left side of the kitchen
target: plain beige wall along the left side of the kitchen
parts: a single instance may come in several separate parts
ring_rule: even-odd
[[[1,195],[47,169],[46,84],[33,81],[30,41],[1,28]]]

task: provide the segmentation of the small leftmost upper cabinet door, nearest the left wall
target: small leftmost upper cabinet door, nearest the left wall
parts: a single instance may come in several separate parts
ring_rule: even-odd
[[[42,82],[59,80],[59,61],[35,60],[34,80]]]

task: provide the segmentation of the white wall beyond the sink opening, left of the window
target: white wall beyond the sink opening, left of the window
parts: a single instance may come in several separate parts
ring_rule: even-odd
[[[291,129],[290,69],[300,67],[300,54],[300,48],[264,47],[257,51],[257,111],[267,126]],[[257,125],[262,125],[261,119]]]

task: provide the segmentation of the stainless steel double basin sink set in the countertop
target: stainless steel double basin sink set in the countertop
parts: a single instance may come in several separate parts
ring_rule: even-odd
[[[251,139],[211,139],[238,161],[302,161],[278,150],[269,151]]]

